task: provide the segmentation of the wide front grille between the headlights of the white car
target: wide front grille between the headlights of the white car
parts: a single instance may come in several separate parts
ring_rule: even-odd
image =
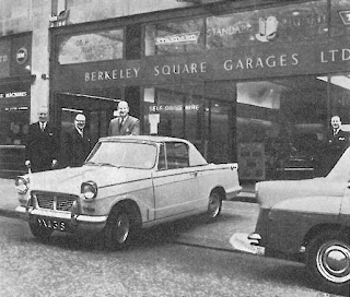
[[[33,192],[40,209],[69,212],[77,200],[77,195],[50,192]]]

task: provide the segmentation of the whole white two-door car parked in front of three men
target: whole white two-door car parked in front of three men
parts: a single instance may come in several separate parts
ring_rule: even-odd
[[[82,167],[18,177],[22,218],[35,237],[54,230],[103,233],[107,248],[137,230],[183,217],[220,214],[241,191],[237,165],[208,164],[194,144],[161,136],[103,138]]]

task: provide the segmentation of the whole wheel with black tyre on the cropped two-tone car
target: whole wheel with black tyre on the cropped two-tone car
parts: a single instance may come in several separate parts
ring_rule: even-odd
[[[349,238],[332,230],[318,235],[306,249],[306,266],[323,288],[343,289],[350,283]]]

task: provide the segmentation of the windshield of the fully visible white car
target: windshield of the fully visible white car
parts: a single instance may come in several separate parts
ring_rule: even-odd
[[[155,144],[100,142],[88,157],[85,164],[150,169],[153,168],[155,159]]]

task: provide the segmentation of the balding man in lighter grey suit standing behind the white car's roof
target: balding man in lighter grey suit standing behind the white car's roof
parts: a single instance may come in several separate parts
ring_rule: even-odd
[[[127,102],[119,102],[118,116],[110,120],[108,135],[139,135],[140,120],[129,116],[129,105]]]

